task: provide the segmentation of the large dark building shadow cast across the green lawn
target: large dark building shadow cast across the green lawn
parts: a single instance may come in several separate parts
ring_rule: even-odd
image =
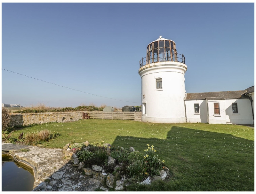
[[[133,185],[135,191],[253,191],[254,141],[225,133],[173,126],[166,139],[117,136],[113,145],[144,152],[154,145],[172,177]]]

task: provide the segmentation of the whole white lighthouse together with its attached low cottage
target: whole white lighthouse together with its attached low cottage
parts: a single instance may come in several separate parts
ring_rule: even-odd
[[[185,57],[161,36],[140,60],[141,121],[254,124],[254,86],[240,91],[185,92]]]

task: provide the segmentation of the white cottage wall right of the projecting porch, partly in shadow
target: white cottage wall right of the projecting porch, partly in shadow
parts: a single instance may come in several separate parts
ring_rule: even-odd
[[[237,112],[233,113],[232,103],[237,103]],[[242,99],[227,99],[226,106],[226,120],[233,124],[253,124],[252,119],[252,105],[249,98]]]

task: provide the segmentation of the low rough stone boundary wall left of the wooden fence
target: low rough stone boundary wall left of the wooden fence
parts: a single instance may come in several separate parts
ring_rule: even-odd
[[[68,122],[83,118],[86,111],[66,112],[66,113],[12,113],[11,125],[41,124],[50,122]]]

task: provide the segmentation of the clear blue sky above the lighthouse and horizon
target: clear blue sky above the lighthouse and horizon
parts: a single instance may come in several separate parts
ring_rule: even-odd
[[[2,103],[140,105],[160,35],[186,57],[187,93],[254,85],[254,3],[2,3]]]

